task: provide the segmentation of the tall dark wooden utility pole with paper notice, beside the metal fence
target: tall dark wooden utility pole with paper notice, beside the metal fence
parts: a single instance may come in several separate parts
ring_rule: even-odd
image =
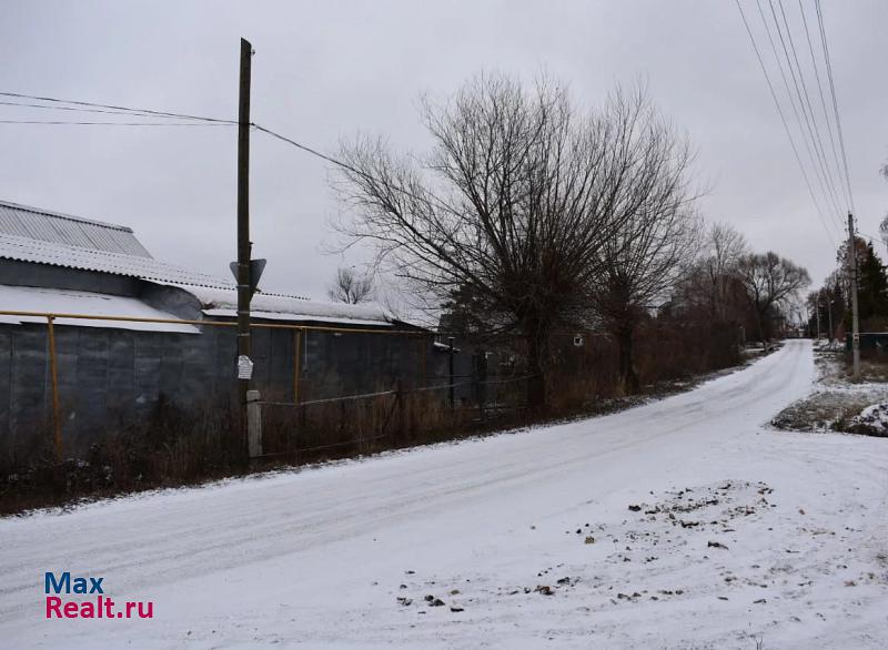
[[[241,82],[238,102],[238,393],[246,431],[250,389],[250,73],[253,47],[241,39]]]

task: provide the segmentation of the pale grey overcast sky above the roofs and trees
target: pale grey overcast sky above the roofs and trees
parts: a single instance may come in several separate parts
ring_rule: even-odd
[[[804,2],[811,21],[814,0]],[[743,4],[779,82],[755,2]],[[245,37],[256,52],[253,120],[325,151],[357,131],[425,150],[418,93],[444,97],[484,69],[527,80],[545,69],[585,104],[642,77],[699,151],[696,170],[713,186],[707,217],[807,266],[815,282],[835,266],[733,0],[0,6],[0,91],[236,118]],[[800,29],[798,1],[784,6]],[[860,230],[878,234],[888,210],[878,174],[888,159],[888,1],[823,0],[823,9]],[[53,118],[101,115],[0,106],[0,119]],[[330,170],[262,133],[252,142],[263,286],[323,297],[343,263],[320,250],[340,210]],[[125,224],[160,260],[228,274],[235,129],[0,124],[0,199]]]

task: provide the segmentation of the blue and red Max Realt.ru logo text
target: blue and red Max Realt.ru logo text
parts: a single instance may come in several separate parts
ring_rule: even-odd
[[[47,618],[60,619],[129,619],[154,618],[154,602],[151,600],[127,600],[120,605],[104,593],[104,578],[71,577],[69,571],[56,573],[47,571],[44,590],[47,593]],[[54,596],[53,596],[54,595]],[[91,598],[64,599],[60,595],[89,596]]]

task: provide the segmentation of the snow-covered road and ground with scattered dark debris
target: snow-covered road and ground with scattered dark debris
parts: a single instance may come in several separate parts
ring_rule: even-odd
[[[814,377],[2,520],[0,646],[885,648],[888,440],[763,425]],[[154,618],[47,620],[50,570]]]

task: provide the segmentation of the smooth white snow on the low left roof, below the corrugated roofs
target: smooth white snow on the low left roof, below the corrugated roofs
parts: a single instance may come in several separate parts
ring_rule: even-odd
[[[17,312],[42,312],[50,314],[82,314],[85,316],[127,316],[133,318],[178,319],[174,315],[155,309],[137,298],[112,296],[64,288],[40,288],[32,286],[0,285],[0,304],[14,306]],[[20,325],[22,323],[47,323],[40,316],[4,316],[0,323]],[[138,323],[129,321],[91,321],[85,318],[57,318],[57,325],[78,327],[105,327],[111,329],[135,329],[140,332],[172,332],[198,334],[193,325],[175,323]]]

